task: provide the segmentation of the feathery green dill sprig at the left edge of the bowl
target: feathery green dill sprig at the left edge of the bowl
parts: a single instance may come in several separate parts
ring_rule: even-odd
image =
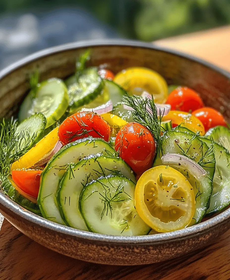
[[[35,138],[36,134],[31,136],[28,131],[17,132],[17,121],[13,118],[10,122],[3,119],[0,125],[0,183],[8,178],[12,163],[29,150]]]

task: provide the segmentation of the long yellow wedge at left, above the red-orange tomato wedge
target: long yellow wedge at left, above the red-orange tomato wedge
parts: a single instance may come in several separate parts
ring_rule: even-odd
[[[28,169],[34,166],[54,149],[58,141],[58,127],[56,127],[43,137],[33,148],[27,151],[25,155],[20,157],[19,160],[13,162],[11,171],[13,169]]]

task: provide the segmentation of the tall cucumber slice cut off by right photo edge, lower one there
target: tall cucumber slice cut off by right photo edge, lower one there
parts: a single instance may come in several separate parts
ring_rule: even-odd
[[[226,148],[214,143],[210,139],[200,137],[210,148],[213,147],[216,168],[213,177],[213,191],[207,215],[223,211],[230,204],[230,154]]]

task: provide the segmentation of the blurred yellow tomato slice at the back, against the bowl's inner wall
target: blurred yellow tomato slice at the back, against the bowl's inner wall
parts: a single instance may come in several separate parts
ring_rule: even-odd
[[[165,79],[151,69],[130,67],[116,74],[113,81],[133,95],[141,95],[144,90],[149,92],[156,103],[164,103],[167,99]]]

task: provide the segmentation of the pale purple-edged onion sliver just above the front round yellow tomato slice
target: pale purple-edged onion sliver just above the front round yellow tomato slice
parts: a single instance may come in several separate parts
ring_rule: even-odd
[[[162,164],[186,169],[195,178],[206,175],[206,171],[198,163],[180,154],[166,154],[161,157]]]

